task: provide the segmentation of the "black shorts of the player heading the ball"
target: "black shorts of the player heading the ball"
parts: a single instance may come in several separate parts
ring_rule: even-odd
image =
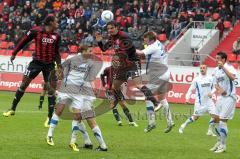
[[[121,69],[113,69],[113,80],[126,82],[129,78],[136,78],[141,75],[141,63],[139,61],[132,62],[129,66]]]

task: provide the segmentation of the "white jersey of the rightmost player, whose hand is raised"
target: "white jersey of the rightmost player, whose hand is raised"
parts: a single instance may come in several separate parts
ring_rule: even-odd
[[[234,69],[234,67],[229,64],[225,63],[224,67],[234,76],[236,77],[237,71]],[[214,71],[214,84],[217,84],[220,86],[225,92],[226,96],[232,96],[233,98],[236,97],[236,86],[234,84],[234,81],[232,81],[227,74],[223,71],[223,69],[216,67]]]

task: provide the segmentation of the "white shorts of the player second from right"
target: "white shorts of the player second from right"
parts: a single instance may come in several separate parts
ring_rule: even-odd
[[[194,116],[202,116],[206,112],[217,115],[216,106],[211,99],[203,102],[201,105],[199,103],[195,103],[193,112]]]

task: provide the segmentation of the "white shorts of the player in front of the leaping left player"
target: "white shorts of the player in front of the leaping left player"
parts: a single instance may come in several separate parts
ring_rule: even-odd
[[[65,104],[81,112],[92,110],[93,102],[96,97],[85,96],[82,94],[69,94],[58,92],[57,103]]]

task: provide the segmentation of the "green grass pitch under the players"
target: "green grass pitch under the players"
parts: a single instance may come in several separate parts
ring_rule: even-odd
[[[1,113],[8,109],[13,92],[0,92]],[[184,134],[178,133],[182,122],[192,112],[192,105],[171,104],[176,126],[169,134],[163,133],[166,121],[158,114],[157,128],[144,133],[147,125],[145,105],[137,102],[129,105],[139,127],[118,127],[111,112],[97,117],[108,152],[81,149],[73,152],[68,147],[71,135],[71,121],[61,120],[55,129],[55,146],[45,142],[47,128],[43,123],[47,116],[47,100],[42,111],[38,111],[38,94],[26,93],[20,102],[16,115],[0,119],[0,159],[238,159],[240,158],[240,111],[236,110],[233,120],[228,122],[227,152],[213,154],[209,151],[215,144],[215,137],[206,136],[210,117],[206,114],[189,125]],[[122,116],[123,113],[119,109]],[[94,147],[97,142],[88,129]],[[83,145],[79,134],[78,144]]]

